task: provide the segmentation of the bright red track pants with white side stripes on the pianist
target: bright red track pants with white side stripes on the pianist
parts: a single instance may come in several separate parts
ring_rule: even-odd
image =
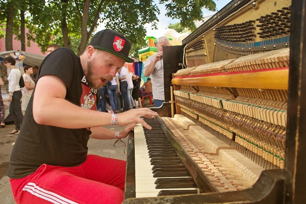
[[[43,164],[22,179],[11,179],[17,203],[121,203],[125,161],[88,155],[75,167]]]

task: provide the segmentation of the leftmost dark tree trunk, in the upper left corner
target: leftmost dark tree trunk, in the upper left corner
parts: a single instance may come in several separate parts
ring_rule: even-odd
[[[6,34],[5,34],[5,49],[7,51],[13,50],[13,23],[14,23],[14,9],[11,6],[8,6],[7,12],[7,25],[6,25]]]

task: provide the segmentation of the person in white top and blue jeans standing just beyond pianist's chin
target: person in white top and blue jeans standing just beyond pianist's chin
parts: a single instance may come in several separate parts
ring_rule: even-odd
[[[123,111],[128,111],[131,109],[131,101],[129,95],[127,95],[127,69],[122,66],[119,70],[119,80],[120,80],[120,91],[123,99]]]

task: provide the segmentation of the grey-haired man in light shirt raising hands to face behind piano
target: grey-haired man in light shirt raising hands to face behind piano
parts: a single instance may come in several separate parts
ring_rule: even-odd
[[[145,77],[151,75],[152,91],[155,101],[155,107],[160,107],[165,102],[164,91],[164,65],[163,65],[163,47],[170,46],[170,41],[167,37],[157,39],[158,52],[148,57],[144,62],[143,73]]]

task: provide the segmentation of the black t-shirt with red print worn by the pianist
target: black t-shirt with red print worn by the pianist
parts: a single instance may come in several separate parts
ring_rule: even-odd
[[[67,86],[66,100],[82,108],[97,110],[97,90],[88,86],[80,58],[71,49],[56,49],[44,59],[37,74],[37,81],[44,75],[56,75]],[[87,157],[90,130],[37,124],[33,118],[34,94],[35,90],[11,154],[8,176],[12,179],[30,175],[42,164],[78,166]]]

